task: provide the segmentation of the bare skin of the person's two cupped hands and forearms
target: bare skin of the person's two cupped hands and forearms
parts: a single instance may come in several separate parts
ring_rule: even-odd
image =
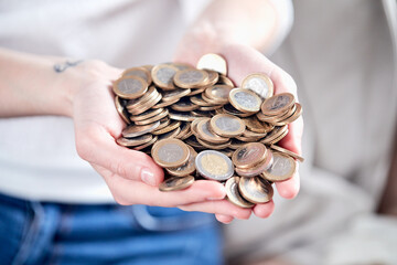
[[[201,55],[219,53],[226,59],[235,84],[253,72],[261,72],[271,77],[276,93],[290,92],[297,96],[293,80],[256,50],[269,45],[280,15],[268,1],[245,1],[244,6],[237,0],[214,1],[181,40],[174,61],[195,65]],[[54,71],[54,65],[61,65],[63,71]],[[235,218],[249,219],[253,212],[259,218],[272,213],[272,201],[254,209],[232,204],[225,200],[225,188],[215,181],[200,180],[182,191],[160,192],[163,170],[146,153],[115,141],[126,126],[116,112],[111,92],[111,83],[121,73],[122,70],[100,61],[77,63],[72,59],[0,49],[0,117],[72,118],[78,155],[105,179],[116,202],[122,205],[179,206],[214,213],[223,223]],[[301,153],[302,119],[289,125],[289,130],[281,146]],[[276,188],[281,197],[294,198],[299,192],[299,173]]]

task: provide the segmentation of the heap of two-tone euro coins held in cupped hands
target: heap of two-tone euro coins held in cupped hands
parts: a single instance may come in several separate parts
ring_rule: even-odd
[[[240,87],[226,61],[206,54],[196,67],[181,63],[126,70],[114,83],[115,104],[128,124],[120,146],[151,155],[165,170],[161,191],[216,180],[242,208],[271,200],[303,158],[277,146],[302,114],[292,94],[273,95],[271,80],[248,75]]]

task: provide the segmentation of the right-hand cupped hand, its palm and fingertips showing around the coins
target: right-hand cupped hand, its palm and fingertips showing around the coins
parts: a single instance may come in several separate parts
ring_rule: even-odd
[[[187,39],[189,40],[189,39]],[[192,39],[193,40],[193,39]],[[242,84],[242,81],[251,73],[265,73],[272,80],[275,84],[275,94],[283,92],[292,93],[297,100],[297,85],[285,71],[275,65],[261,53],[255,49],[246,45],[233,44],[233,45],[219,45],[217,49],[208,50],[206,46],[197,46],[197,49],[186,50],[185,46],[190,46],[185,41],[181,45],[180,52],[176,53],[175,61],[182,63],[189,63],[195,65],[201,55],[207,52],[218,53],[223,55],[227,61],[228,77],[233,80],[235,85]],[[288,125],[288,135],[279,142],[280,146],[301,155],[301,139],[303,134],[303,119],[300,117],[292,124]],[[289,180],[277,182],[276,189],[279,194],[286,199],[294,198],[300,188],[299,172],[293,174]],[[226,200],[214,200],[200,203],[192,203],[181,206],[185,211],[202,211],[215,213],[216,219],[223,223],[229,223],[234,218],[249,218],[247,209],[238,208]],[[268,218],[275,209],[275,203],[269,201],[267,203],[256,204],[253,208],[255,215],[259,218]]]

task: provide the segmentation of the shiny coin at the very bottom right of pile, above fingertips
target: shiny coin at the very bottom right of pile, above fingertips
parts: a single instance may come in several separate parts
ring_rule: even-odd
[[[262,178],[240,178],[238,191],[247,201],[251,203],[265,203],[272,199],[273,189],[271,184]]]

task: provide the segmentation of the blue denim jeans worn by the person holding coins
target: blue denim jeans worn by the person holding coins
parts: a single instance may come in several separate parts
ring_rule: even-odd
[[[0,194],[0,264],[223,264],[221,239],[205,213]]]

